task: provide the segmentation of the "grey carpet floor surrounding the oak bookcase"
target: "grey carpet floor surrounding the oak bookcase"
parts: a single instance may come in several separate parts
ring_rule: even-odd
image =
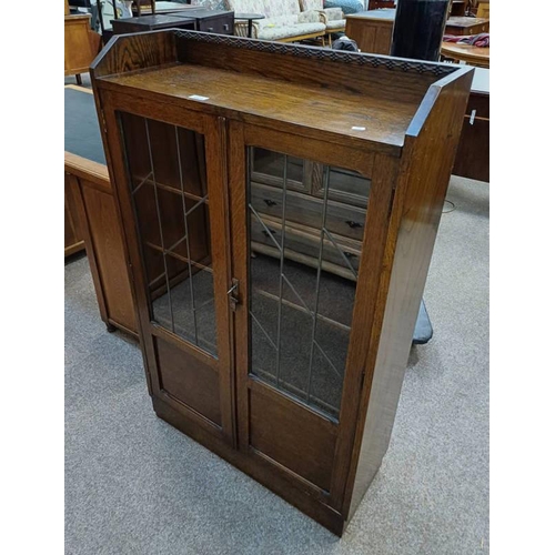
[[[488,553],[488,185],[454,178],[390,450],[342,539],[157,418],[139,349],[65,265],[68,554]],[[446,206],[448,209],[450,206]]]

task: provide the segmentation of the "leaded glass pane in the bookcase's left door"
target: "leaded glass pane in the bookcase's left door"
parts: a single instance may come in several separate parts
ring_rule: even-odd
[[[153,322],[216,356],[204,138],[120,113]]]

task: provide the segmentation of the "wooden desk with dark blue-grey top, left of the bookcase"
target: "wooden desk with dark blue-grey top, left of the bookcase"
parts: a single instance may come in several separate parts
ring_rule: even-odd
[[[108,330],[118,327],[137,337],[127,250],[92,91],[67,85],[64,107],[65,255],[85,249]],[[68,241],[73,241],[70,249]]]

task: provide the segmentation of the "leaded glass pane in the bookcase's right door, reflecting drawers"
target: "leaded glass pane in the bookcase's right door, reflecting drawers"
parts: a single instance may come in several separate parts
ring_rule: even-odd
[[[249,149],[251,159],[259,150]],[[274,189],[261,190],[252,174],[248,185],[251,372],[336,420],[361,241],[342,234],[337,214],[351,221],[350,206],[341,206],[345,212],[337,211],[337,203],[330,208],[329,193],[336,170],[363,180],[365,191],[370,180],[324,167],[319,199],[291,191],[289,157],[272,152],[268,158],[280,175]],[[360,219],[361,209],[353,211]]]

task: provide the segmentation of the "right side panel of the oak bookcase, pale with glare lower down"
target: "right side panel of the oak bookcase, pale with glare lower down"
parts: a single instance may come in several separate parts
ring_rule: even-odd
[[[431,88],[407,135],[392,206],[344,509],[351,517],[387,450],[473,71]],[[437,150],[442,157],[437,157]]]

